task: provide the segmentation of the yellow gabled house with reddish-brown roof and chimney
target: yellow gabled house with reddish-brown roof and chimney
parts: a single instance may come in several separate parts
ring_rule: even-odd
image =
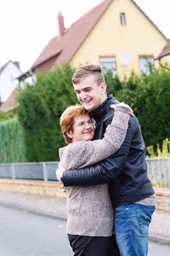
[[[147,63],[167,44],[166,36],[133,0],[105,0],[65,28],[58,14],[59,34],[33,63],[38,72],[70,63],[100,63],[104,70],[125,76],[148,73]]]

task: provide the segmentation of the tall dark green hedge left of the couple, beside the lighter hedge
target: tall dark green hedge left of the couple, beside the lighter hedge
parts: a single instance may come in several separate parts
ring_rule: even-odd
[[[37,74],[37,84],[20,91],[18,115],[24,127],[27,160],[58,160],[58,149],[65,144],[59,117],[77,101],[71,84],[73,73],[65,65]]]

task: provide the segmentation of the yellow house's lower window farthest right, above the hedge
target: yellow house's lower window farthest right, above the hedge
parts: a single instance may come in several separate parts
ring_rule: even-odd
[[[149,74],[154,65],[153,56],[139,56],[139,72]]]

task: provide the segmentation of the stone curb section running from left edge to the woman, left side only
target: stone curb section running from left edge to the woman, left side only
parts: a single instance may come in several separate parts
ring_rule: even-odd
[[[36,209],[33,207],[28,207],[28,206],[24,206],[24,205],[20,205],[17,203],[11,203],[11,202],[6,202],[6,201],[0,201],[0,205],[3,207],[10,207],[10,208],[15,208],[15,209],[19,209],[19,210],[23,210],[23,211],[27,211],[27,212],[32,212],[38,215],[42,215],[42,216],[46,216],[46,217],[50,217],[50,218],[57,218],[57,219],[61,219],[61,220],[65,220],[67,219],[65,214],[57,214],[57,213],[53,213],[53,212],[48,212],[45,210],[40,210],[40,209]]]

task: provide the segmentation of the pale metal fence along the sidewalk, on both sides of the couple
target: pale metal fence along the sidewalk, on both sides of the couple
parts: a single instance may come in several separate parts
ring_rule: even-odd
[[[170,187],[170,157],[147,158],[148,177],[153,185]],[[56,181],[58,162],[0,164],[0,178]]]

